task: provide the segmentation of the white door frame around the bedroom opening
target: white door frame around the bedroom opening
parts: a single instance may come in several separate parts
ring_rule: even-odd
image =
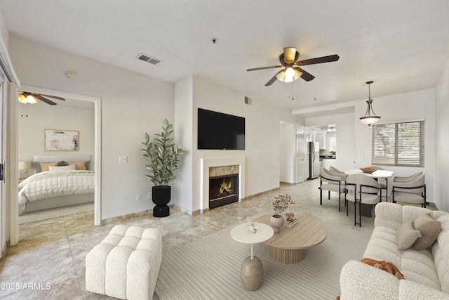
[[[83,96],[79,94],[74,93],[66,93],[62,91],[53,91],[48,89],[41,89],[34,86],[21,86],[20,90],[29,91],[32,93],[43,93],[43,94],[49,94],[53,96],[59,96],[62,98],[70,98],[74,100],[80,100],[80,101],[88,101],[94,104],[94,169],[95,169],[95,193],[94,193],[94,220],[93,223],[95,225],[101,224],[101,99],[97,97],[91,97],[91,96]],[[15,89],[15,97],[18,97],[18,89]],[[14,96],[13,96],[14,97]],[[11,101],[12,103],[16,103],[16,109],[17,112],[18,108],[18,101]],[[18,127],[18,113],[11,114],[11,119],[13,119],[13,126],[15,126],[15,131],[17,132]],[[17,140],[16,140],[17,143]],[[15,145],[15,148],[17,149],[18,145]],[[17,165],[17,162],[15,162]],[[11,197],[11,235],[15,235],[14,239],[18,242],[18,186],[15,185],[15,190],[12,192],[13,197]],[[16,243],[17,243],[16,242]],[[11,243],[11,246],[14,244]]]

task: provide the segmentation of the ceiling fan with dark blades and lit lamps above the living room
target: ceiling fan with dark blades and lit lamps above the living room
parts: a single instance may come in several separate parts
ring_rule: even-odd
[[[321,58],[310,58],[308,60],[297,60],[300,57],[300,53],[296,51],[296,48],[288,47],[283,48],[283,53],[279,56],[279,61],[281,65],[272,65],[270,67],[255,67],[253,69],[248,69],[246,71],[257,71],[265,69],[276,69],[278,67],[283,67],[283,70],[279,71],[274,75],[272,79],[265,84],[265,86],[271,86],[276,79],[283,82],[291,82],[293,80],[301,77],[305,81],[311,81],[314,79],[314,75],[302,70],[300,66],[302,65],[315,65],[317,63],[330,63],[340,59],[340,56],[334,54],[333,56],[322,56]]]

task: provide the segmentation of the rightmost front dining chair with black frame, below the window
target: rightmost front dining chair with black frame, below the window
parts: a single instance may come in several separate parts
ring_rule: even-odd
[[[393,181],[391,190],[391,200],[393,202],[406,202],[421,204],[426,207],[426,178],[424,174],[413,178],[410,181]]]

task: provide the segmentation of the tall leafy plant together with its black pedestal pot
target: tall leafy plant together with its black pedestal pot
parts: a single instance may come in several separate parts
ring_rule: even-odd
[[[149,174],[145,174],[153,183],[152,201],[156,206],[153,209],[153,216],[163,217],[170,214],[168,202],[171,198],[170,181],[175,180],[173,171],[177,169],[180,162],[179,157],[185,155],[187,151],[177,148],[170,135],[173,133],[173,124],[167,119],[162,122],[162,132],[154,134],[153,141],[150,141],[148,133],[145,133],[141,149],[143,157],[149,162],[145,164]]]

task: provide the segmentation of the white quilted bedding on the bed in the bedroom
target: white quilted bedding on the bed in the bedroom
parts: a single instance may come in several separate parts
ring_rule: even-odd
[[[88,170],[43,171],[19,184],[19,214],[25,204],[51,197],[94,193],[94,172]]]

